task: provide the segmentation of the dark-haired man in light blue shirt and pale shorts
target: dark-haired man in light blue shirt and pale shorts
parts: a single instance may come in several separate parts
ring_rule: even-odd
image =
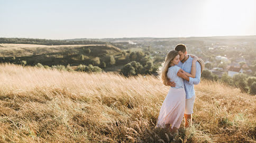
[[[187,47],[184,44],[178,44],[175,48],[179,52],[180,62],[177,66],[186,71],[191,72],[191,66],[193,58],[187,54]],[[185,127],[189,126],[189,122],[192,124],[192,114],[194,113],[194,103],[195,103],[195,89],[194,85],[199,84],[201,77],[201,66],[196,62],[196,76],[195,78],[188,77],[182,71],[178,71],[179,77],[184,79],[184,87],[186,91],[186,107],[185,107]],[[169,82],[169,85],[175,87],[175,83]]]

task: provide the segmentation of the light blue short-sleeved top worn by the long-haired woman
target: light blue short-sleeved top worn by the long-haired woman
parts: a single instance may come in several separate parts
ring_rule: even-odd
[[[184,81],[181,77],[177,76],[180,67],[178,66],[171,66],[168,68],[167,77],[174,81],[176,86],[172,88],[184,88]]]

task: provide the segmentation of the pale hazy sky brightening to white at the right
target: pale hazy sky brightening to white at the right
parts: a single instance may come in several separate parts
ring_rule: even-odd
[[[0,37],[256,35],[255,0],[0,0]]]

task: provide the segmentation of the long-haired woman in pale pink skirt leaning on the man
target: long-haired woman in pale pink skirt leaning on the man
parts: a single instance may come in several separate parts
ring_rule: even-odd
[[[166,86],[168,86],[168,78],[171,79],[171,81],[175,81],[176,87],[170,87],[169,92],[163,101],[158,117],[158,127],[168,128],[173,132],[177,131],[180,127],[185,111],[186,93],[183,79],[178,77],[177,73],[181,70],[187,76],[195,77],[197,60],[198,58],[194,57],[191,74],[189,74],[176,66],[180,62],[179,54],[176,50],[171,50],[167,54],[161,70],[161,79]]]

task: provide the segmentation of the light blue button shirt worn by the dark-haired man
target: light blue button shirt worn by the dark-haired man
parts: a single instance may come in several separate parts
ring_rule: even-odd
[[[184,63],[179,62],[177,66],[183,69],[184,71],[186,71],[187,73],[190,73],[192,61],[193,61],[193,58],[189,56]],[[201,77],[201,66],[198,62],[196,62],[196,77],[195,78],[189,77],[189,81],[184,79],[186,99],[189,99],[195,95],[194,85],[198,85],[200,83],[200,77]]]

